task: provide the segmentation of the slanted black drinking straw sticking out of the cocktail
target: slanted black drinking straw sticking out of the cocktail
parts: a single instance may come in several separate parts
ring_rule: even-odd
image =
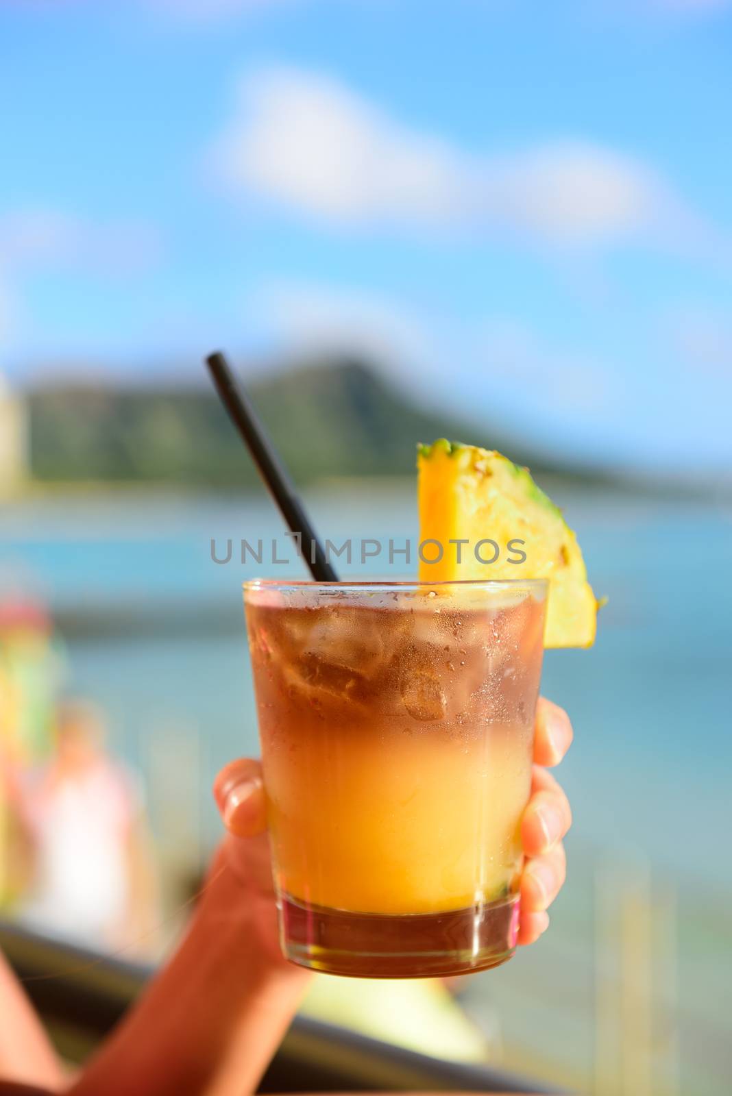
[[[241,434],[247,448],[282,516],[291,533],[300,537],[300,551],[316,582],[338,582],[338,574],[325,556],[323,546],[305,512],[287,469],[260,421],[254,407],[233,376],[224,354],[216,351],[206,358],[208,372],[221,402]]]

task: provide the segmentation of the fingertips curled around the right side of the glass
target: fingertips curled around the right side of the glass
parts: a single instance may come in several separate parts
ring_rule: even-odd
[[[572,724],[564,709],[539,697],[531,798],[524,811],[521,831],[526,863],[521,879],[519,944],[534,944],[549,927],[547,909],[567,876],[562,837],[572,824],[572,812],[567,796],[548,768],[560,763],[572,738]]]

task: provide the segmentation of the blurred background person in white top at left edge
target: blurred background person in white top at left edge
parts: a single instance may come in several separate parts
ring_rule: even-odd
[[[50,760],[15,781],[33,867],[20,914],[88,947],[139,954],[159,920],[157,880],[141,792],[104,738],[95,706],[65,700]]]

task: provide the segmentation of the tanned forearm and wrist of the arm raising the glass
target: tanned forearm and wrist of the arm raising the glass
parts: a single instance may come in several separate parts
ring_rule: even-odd
[[[253,1092],[307,974],[267,955],[239,883],[215,879],[172,960],[75,1085],[73,1096]],[[251,923],[248,918],[251,917]]]

